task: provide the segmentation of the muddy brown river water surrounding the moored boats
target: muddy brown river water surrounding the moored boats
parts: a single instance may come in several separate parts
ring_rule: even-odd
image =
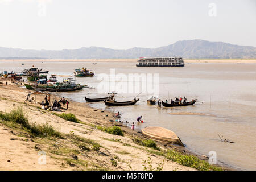
[[[24,65],[22,65],[24,63]],[[147,105],[148,93],[118,93],[116,101],[132,100],[137,94],[140,101],[133,106],[108,107],[104,102],[92,103],[97,109],[119,111],[122,121],[135,122],[135,129],[146,126],[166,127],[174,131],[185,146],[197,154],[208,155],[215,151],[217,163],[237,169],[256,169],[256,64],[186,64],[183,68],[135,67],[135,63],[61,62],[61,61],[0,61],[0,71],[22,71],[35,67],[57,74],[58,80],[73,77],[75,68],[92,69],[94,77],[76,78],[84,88],[77,92],[57,93],[74,101],[85,102],[84,97],[108,96],[98,90],[101,73],[159,73],[159,96],[164,101],[185,96],[188,101],[197,98],[193,106],[157,109]],[[125,83],[126,81],[117,81]],[[129,86],[128,86],[129,87]],[[113,90],[109,89],[109,92]],[[116,90],[117,91],[117,90]],[[201,103],[203,102],[203,103]],[[143,123],[136,118],[142,115]],[[234,143],[221,142],[218,134]]]

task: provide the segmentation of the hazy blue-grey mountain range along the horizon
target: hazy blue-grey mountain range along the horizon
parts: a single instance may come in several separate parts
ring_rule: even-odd
[[[151,56],[180,56],[190,59],[256,58],[256,47],[237,46],[207,40],[183,40],[159,48],[134,47],[115,50],[104,47],[82,47],[59,51],[0,47],[0,59],[136,59]]]

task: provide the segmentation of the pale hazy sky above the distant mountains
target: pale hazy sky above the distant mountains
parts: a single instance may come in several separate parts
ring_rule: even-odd
[[[204,39],[256,47],[256,0],[0,0],[0,47],[155,48]]]

